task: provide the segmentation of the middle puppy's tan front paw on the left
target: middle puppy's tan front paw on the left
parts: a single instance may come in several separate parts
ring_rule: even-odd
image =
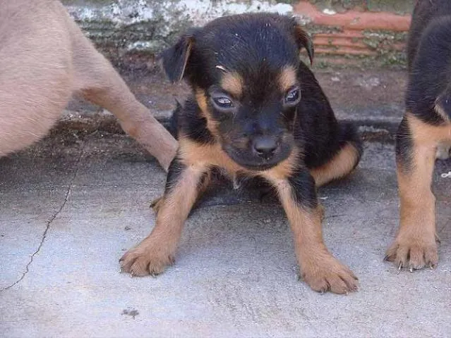
[[[157,249],[149,244],[140,244],[128,250],[119,260],[121,272],[130,273],[132,277],[160,275],[167,265],[174,263],[174,253]]]

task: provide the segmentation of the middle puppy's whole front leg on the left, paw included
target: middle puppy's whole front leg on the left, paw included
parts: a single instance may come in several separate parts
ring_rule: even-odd
[[[175,158],[169,167],[166,189],[154,229],[136,248],[120,259],[121,270],[133,276],[158,275],[174,263],[184,222],[198,196],[205,167],[184,165]]]

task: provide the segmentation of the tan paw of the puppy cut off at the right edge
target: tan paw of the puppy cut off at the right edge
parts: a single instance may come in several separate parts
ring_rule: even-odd
[[[385,261],[394,262],[399,268],[407,268],[411,272],[423,267],[435,268],[438,263],[435,237],[425,235],[399,236],[387,249]]]

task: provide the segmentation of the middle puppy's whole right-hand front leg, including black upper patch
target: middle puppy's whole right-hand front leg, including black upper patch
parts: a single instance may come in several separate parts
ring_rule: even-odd
[[[288,179],[271,177],[294,234],[301,276],[317,292],[345,294],[357,289],[357,278],[327,250],[323,242],[315,181],[307,169]]]

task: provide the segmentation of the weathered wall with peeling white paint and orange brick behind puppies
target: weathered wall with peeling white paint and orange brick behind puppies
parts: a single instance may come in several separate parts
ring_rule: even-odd
[[[258,11],[303,18],[319,46],[317,55],[327,62],[359,58],[402,64],[404,33],[408,28],[405,23],[408,16],[404,14],[410,13],[414,0],[63,0],[63,3],[97,48],[119,66],[134,63],[142,56],[152,58],[188,27],[204,25],[221,15]],[[337,24],[336,19],[343,17],[346,21],[349,15],[348,24]],[[383,23],[390,16],[390,25],[352,27],[356,21],[368,20],[365,15],[369,15],[370,21]],[[398,24],[398,18],[403,23]]]

